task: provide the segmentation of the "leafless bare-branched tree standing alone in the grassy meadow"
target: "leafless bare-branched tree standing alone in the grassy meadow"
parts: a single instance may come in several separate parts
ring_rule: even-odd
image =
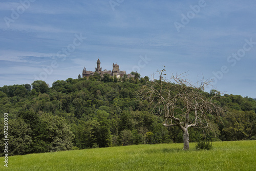
[[[164,67],[165,68],[165,67]],[[150,102],[152,112],[164,117],[164,126],[179,126],[183,132],[183,149],[189,149],[188,127],[212,129],[210,120],[222,112],[220,106],[203,95],[210,81],[190,83],[182,75],[164,79],[165,69],[158,71],[159,80],[149,81],[142,87],[141,95]],[[209,119],[209,117],[211,119]]]

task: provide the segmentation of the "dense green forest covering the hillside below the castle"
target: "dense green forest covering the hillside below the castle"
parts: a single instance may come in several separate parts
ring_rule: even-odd
[[[98,74],[81,79],[44,81],[0,88],[0,117],[8,113],[9,155],[130,144],[183,142],[177,127],[164,127],[138,94],[148,77]],[[157,81],[157,80],[156,80]],[[211,98],[216,93],[204,92]],[[217,131],[189,128],[190,142],[256,139],[256,101],[239,95],[218,96],[225,109]],[[1,119],[1,127],[3,126]],[[1,135],[4,135],[1,129]],[[3,155],[3,143],[1,154]]]

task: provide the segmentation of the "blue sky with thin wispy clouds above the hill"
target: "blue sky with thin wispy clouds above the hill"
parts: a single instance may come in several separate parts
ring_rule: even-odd
[[[256,98],[256,1],[3,0],[0,87],[77,78],[117,63],[127,73]]]

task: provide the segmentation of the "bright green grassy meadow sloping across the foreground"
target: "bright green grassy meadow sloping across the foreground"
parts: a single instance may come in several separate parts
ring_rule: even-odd
[[[256,141],[213,142],[211,151],[183,144],[131,145],[2,158],[0,170],[256,170]]]

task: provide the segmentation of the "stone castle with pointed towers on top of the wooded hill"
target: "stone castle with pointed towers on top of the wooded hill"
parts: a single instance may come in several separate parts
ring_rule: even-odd
[[[97,60],[97,67],[95,67],[95,71],[87,71],[86,67],[82,70],[82,78],[89,77],[90,75],[93,75],[95,72],[99,73],[101,77],[103,77],[103,74],[109,74],[110,76],[115,76],[117,78],[123,77],[124,74],[126,74],[126,71],[120,71],[119,65],[113,63],[113,69],[111,70],[104,70],[102,71],[102,67],[100,67],[100,60]],[[127,74],[127,77],[133,76],[132,74]]]

